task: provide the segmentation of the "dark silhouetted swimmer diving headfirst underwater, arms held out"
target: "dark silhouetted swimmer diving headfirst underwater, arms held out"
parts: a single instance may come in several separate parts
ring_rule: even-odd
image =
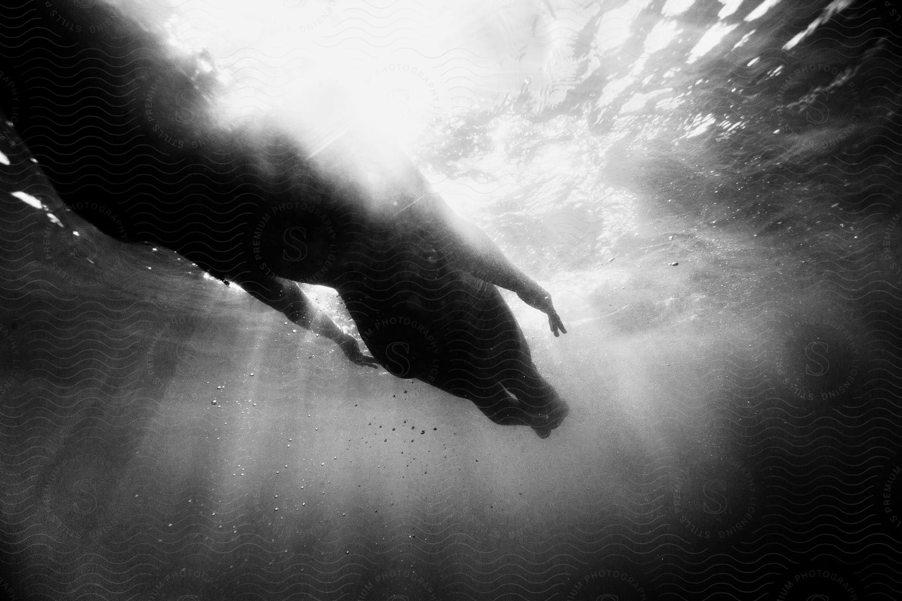
[[[561,423],[567,405],[496,286],[548,314],[557,336],[551,297],[400,153],[376,149],[391,160],[372,185],[353,138],[313,147],[278,123],[218,123],[203,54],[179,54],[120,10],[13,4],[0,9],[0,79],[13,90],[0,109],[72,210],[179,252],[358,365],[542,438]],[[336,288],[373,356],[297,282]]]

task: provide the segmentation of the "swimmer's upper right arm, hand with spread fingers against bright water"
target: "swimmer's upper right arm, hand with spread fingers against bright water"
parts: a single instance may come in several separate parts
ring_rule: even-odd
[[[419,217],[425,218],[428,229],[441,241],[442,250],[459,269],[516,292],[524,303],[548,314],[548,326],[555,336],[566,333],[564,322],[551,303],[551,295],[517,269],[485,232],[456,214],[437,194],[422,197],[416,205],[419,205]]]

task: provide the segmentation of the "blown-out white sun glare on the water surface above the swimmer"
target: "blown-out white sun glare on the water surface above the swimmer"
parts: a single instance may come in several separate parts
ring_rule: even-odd
[[[464,25],[432,20],[428,31],[412,31],[400,21],[335,2],[196,0],[165,28],[173,46],[207,50],[223,70],[218,105],[228,121],[267,115],[308,136],[311,148],[366,130],[409,149],[453,108],[453,69],[436,57],[439,41]]]

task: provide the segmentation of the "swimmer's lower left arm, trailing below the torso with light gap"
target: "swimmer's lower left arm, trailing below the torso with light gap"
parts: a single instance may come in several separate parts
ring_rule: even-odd
[[[297,282],[260,275],[254,278],[235,278],[235,283],[247,290],[254,298],[285,314],[302,328],[334,341],[338,348],[345,353],[345,357],[353,363],[371,368],[379,367],[379,363],[373,357],[364,355],[360,351],[360,346],[354,336],[343,332],[331,317],[320,310],[303,293]]]

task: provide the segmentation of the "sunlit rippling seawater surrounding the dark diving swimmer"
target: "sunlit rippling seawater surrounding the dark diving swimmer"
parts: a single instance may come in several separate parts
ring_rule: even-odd
[[[103,236],[7,127],[0,588],[902,595],[902,5],[757,7],[297,2],[205,41],[239,81],[272,40],[374,58],[368,102],[568,325],[506,296],[572,408],[545,441]]]

